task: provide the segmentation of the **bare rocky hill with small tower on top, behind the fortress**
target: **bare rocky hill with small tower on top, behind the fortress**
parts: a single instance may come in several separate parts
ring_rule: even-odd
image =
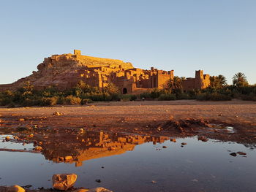
[[[28,77],[12,84],[0,85],[0,91],[23,87],[26,81],[31,82],[34,88],[45,88],[50,85],[56,85],[60,89],[70,88],[81,80],[83,72],[87,69],[95,68],[100,71],[102,67],[108,67],[114,71],[116,69],[133,69],[131,63],[117,59],[81,55],[80,50],[74,50],[74,54],[52,55],[45,58],[42,64],[37,66],[37,72],[32,72]]]

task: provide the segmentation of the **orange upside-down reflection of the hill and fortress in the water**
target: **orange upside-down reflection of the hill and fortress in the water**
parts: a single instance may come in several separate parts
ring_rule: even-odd
[[[135,145],[140,145],[144,142],[161,143],[167,139],[170,139],[170,137],[107,134],[102,131],[86,131],[79,136],[77,134],[70,135],[64,139],[64,142],[60,142],[58,137],[56,137],[56,139],[46,143],[43,147],[45,158],[60,163],[64,161],[64,156],[71,155],[72,161],[68,162],[75,162],[76,166],[81,166],[83,161],[111,155],[120,155],[128,150],[134,150]]]

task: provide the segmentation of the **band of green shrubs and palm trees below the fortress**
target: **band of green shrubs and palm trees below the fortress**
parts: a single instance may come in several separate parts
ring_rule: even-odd
[[[91,87],[85,82],[65,91],[59,91],[55,86],[36,90],[30,82],[25,82],[16,91],[1,91],[0,105],[7,107],[53,106],[56,104],[87,104],[92,101],[134,101],[197,99],[200,101],[226,101],[233,98],[256,101],[256,85],[249,85],[244,73],[233,76],[233,85],[227,85],[226,78],[219,74],[210,77],[210,85],[202,90],[185,92],[182,88],[184,77],[175,76],[168,82],[166,89],[153,88],[150,91],[135,94],[121,94],[116,85],[109,83],[105,88]]]

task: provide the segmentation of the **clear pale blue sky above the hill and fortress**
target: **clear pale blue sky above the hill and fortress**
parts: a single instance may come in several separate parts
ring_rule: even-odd
[[[3,0],[0,84],[26,77],[43,58],[82,50],[135,67],[244,72],[256,83],[255,0]]]

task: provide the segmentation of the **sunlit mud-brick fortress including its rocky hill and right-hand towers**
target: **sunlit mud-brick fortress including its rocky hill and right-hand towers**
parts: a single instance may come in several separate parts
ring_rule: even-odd
[[[122,93],[140,93],[151,88],[167,88],[173,79],[173,70],[138,69],[131,63],[110,59],[94,58],[81,55],[80,50],[74,54],[52,55],[37,66],[38,71],[29,77],[12,84],[0,85],[0,91],[15,89],[29,81],[34,88],[42,89],[55,85],[59,90],[72,88],[80,80],[88,85],[104,88],[109,83],[115,84]],[[184,91],[203,89],[210,85],[210,76],[202,70],[195,72],[195,78],[186,78],[182,82]]]

